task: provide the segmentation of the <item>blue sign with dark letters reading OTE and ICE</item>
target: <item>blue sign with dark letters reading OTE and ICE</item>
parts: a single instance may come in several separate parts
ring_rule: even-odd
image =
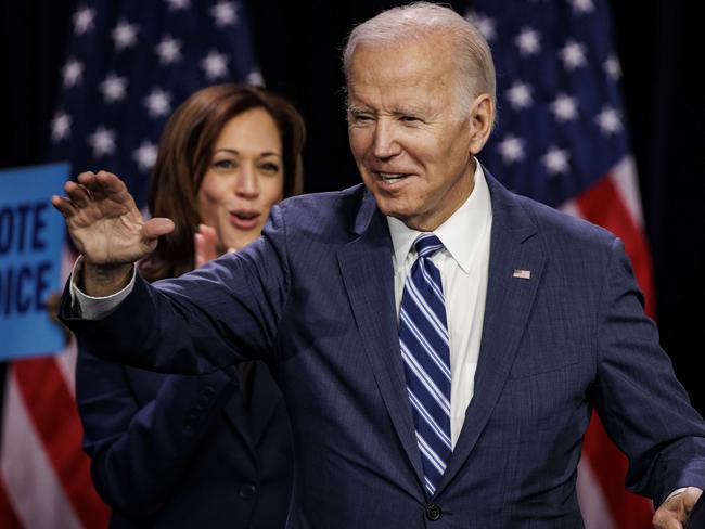
[[[68,164],[0,171],[0,359],[50,354],[64,334],[47,311],[60,293],[64,218],[51,205]]]

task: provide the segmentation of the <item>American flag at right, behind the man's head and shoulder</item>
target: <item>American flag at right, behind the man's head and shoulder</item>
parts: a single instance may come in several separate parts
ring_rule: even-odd
[[[625,241],[654,312],[649,249],[605,0],[476,0],[466,17],[495,57],[498,124],[484,164],[513,191],[603,225]],[[593,415],[578,473],[589,529],[652,527],[625,490],[627,460]]]

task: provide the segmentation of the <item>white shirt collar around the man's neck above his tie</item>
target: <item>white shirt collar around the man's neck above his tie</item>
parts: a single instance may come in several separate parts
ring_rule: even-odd
[[[448,254],[465,273],[470,272],[471,258],[486,233],[492,215],[485,172],[477,159],[475,159],[473,178],[475,186],[467,199],[434,231]],[[411,245],[422,232],[412,230],[394,217],[387,217],[387,222],[394,247],[395,269],[398,269],[403,264]]]

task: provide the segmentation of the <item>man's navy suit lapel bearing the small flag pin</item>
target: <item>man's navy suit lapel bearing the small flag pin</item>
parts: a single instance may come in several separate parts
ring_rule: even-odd
[[[534,237],[536,225],[515,197],[489,176],[487,170],[485,173],[492,202],[492,233],[475,391],[436,494],[452,480],[467,460],[501,395],[544,264],[543,253],[537,244],[538,237]],[[515,270],[528,270],[530,278],[515,278]]]

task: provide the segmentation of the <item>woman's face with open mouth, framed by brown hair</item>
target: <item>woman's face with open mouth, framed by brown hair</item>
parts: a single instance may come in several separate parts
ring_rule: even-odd
[[[264,108],[239,114],[220,131],[198,190],[198,211],[223,248],[238,250],[261,233],[282,199],[282,154],[277,124]]]

